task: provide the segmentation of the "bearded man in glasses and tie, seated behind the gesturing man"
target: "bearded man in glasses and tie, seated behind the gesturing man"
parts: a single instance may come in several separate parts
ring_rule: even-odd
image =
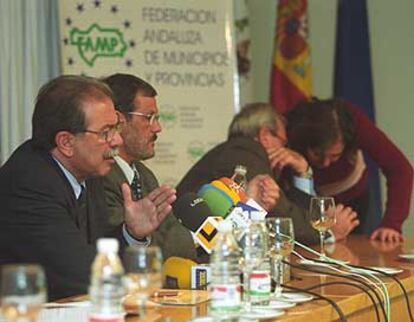
[[[154,173],[141,161],[154,156],[154,145],[157,134],[161,132],[161,124],[158,119],[157,92],[152,85],[130,74],[114,74],[104,79],[104,82],[114,93],[123,139],[119,156],[115,157],[114,166],[104,178],[109,208],[107,227],[112,230],[124,220],[123,183],[140,190],[137,198],[148,195],[159,186]],[[179,256],[197,260],[190,231],[174,215],[168,216],[151,237],[152,243],[161,247],[164,259]]]

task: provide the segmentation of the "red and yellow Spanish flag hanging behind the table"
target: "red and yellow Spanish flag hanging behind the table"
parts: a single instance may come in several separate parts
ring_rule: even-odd
[[[279,0],[271,103],[279,113],[312,96],[307,0]]]

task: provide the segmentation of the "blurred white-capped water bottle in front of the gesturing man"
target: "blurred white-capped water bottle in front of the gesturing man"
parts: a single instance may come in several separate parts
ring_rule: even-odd
[[[98,253],[92,264],[89,286],[92,303],[89,322],[123,322],[124,269],[118,257],[118,240],[101,238],[96,245]]]

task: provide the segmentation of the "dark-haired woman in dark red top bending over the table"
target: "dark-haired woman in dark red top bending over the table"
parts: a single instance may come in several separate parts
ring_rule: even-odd
[[[371,239],[402,240],[401,226],[410,210],[413,168],[402,152],[356,106],[341,99],[299,103],[287,115],[289,145],[306,157],[318,194],[351,206],[369,220],[368,170],[364,153],[387,179],[382,222]],[[360,226],[360,227],[361,227]],[[355,232],[358,231],[358,228]]]

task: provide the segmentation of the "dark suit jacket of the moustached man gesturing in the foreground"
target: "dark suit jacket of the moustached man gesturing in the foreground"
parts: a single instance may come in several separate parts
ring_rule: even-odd
[[[0,168],[0,264],[41,264],[50,299],[87,291],[106,205],[99,179],[86,181],[86,193],[82,230],[72,186],[48,152],[27,141]]]

